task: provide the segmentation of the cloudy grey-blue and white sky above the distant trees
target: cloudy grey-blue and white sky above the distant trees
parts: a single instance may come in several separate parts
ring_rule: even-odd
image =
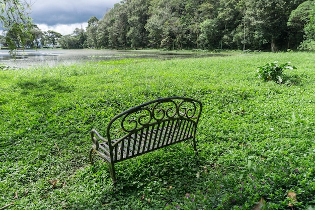
[[[54,30],[62,35],[75,28],[87,27],[95,16],[103,18],[106,11],[121,0],[32,0],[30,17],[42,30]]]

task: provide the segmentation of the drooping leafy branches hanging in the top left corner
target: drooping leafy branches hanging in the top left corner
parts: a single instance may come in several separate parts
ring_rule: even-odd
[[[22,47],[26,45],[27,37],[31,36],[32,20],[28,17],[30,4],[26,1],[2,0],[0,21],[5,32],[7,32],[6,42],[9,45],[10,53],[14,53],[17,42]]]

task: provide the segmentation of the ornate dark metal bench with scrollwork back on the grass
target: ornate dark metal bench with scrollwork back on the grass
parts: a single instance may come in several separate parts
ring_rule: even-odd
[[[106,137],[91,131],[90,161],[100,156],[116,185],[114,164],[179,142],[192,140],[196,147],[196,128],[202,111],[200,101],[169,97],[143,103],[112,118]]]

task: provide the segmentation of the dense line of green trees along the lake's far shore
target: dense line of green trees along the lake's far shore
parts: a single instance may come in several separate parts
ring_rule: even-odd
[[[69,35],[28,25],[24,41],[58,41],[62,48],[315,50],[314,9],[315,0],[124,0]]]

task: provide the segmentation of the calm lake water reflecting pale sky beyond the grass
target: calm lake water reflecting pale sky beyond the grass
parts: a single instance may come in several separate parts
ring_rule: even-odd
[[[0,50],[0,63],[17,68],[29,68],[124,58],[172,59],[225,55],[220,53],[163,52],[155,50],[38,49],[21,50],[13,57],[8,50]]]

